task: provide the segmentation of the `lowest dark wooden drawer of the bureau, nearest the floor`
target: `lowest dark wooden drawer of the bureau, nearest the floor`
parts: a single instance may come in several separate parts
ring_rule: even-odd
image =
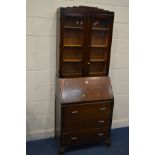
[[[91,129],[83,130],[72,133],[63,134],[64,145],[80,145],[80,144],[91,144],[96,142],[102,142],[104,139],[109,137],[109,130],[106,129]]]

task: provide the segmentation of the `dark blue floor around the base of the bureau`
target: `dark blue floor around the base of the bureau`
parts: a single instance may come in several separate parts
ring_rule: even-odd
[[[111,131],[112,144],[89,145],[69,149],[64,155],[129,155],[129,128],[118,128]],[[54,138],[26,143],[26,155],[57,155],[57,142]]]

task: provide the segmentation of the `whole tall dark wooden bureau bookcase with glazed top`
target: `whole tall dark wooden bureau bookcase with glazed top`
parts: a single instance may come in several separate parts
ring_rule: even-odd
[[[57,10],[55,134],[60,154],[76,145],[110,143],[113,20],[114,12],[96,7]]]

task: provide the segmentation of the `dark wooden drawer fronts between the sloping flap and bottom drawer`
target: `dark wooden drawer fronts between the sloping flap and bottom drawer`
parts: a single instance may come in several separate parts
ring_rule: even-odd
[[[69,105],[62,109],[63,131],[109,128],[112,103]]]

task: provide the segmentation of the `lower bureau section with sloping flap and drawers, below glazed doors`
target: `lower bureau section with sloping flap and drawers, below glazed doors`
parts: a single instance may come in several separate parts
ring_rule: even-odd
[[[99,137],[109,141],[114,105],[109,77],[57,78],[56,96],[60,148],[100,142]],[[104,136],[96,136],[98,130]]]

